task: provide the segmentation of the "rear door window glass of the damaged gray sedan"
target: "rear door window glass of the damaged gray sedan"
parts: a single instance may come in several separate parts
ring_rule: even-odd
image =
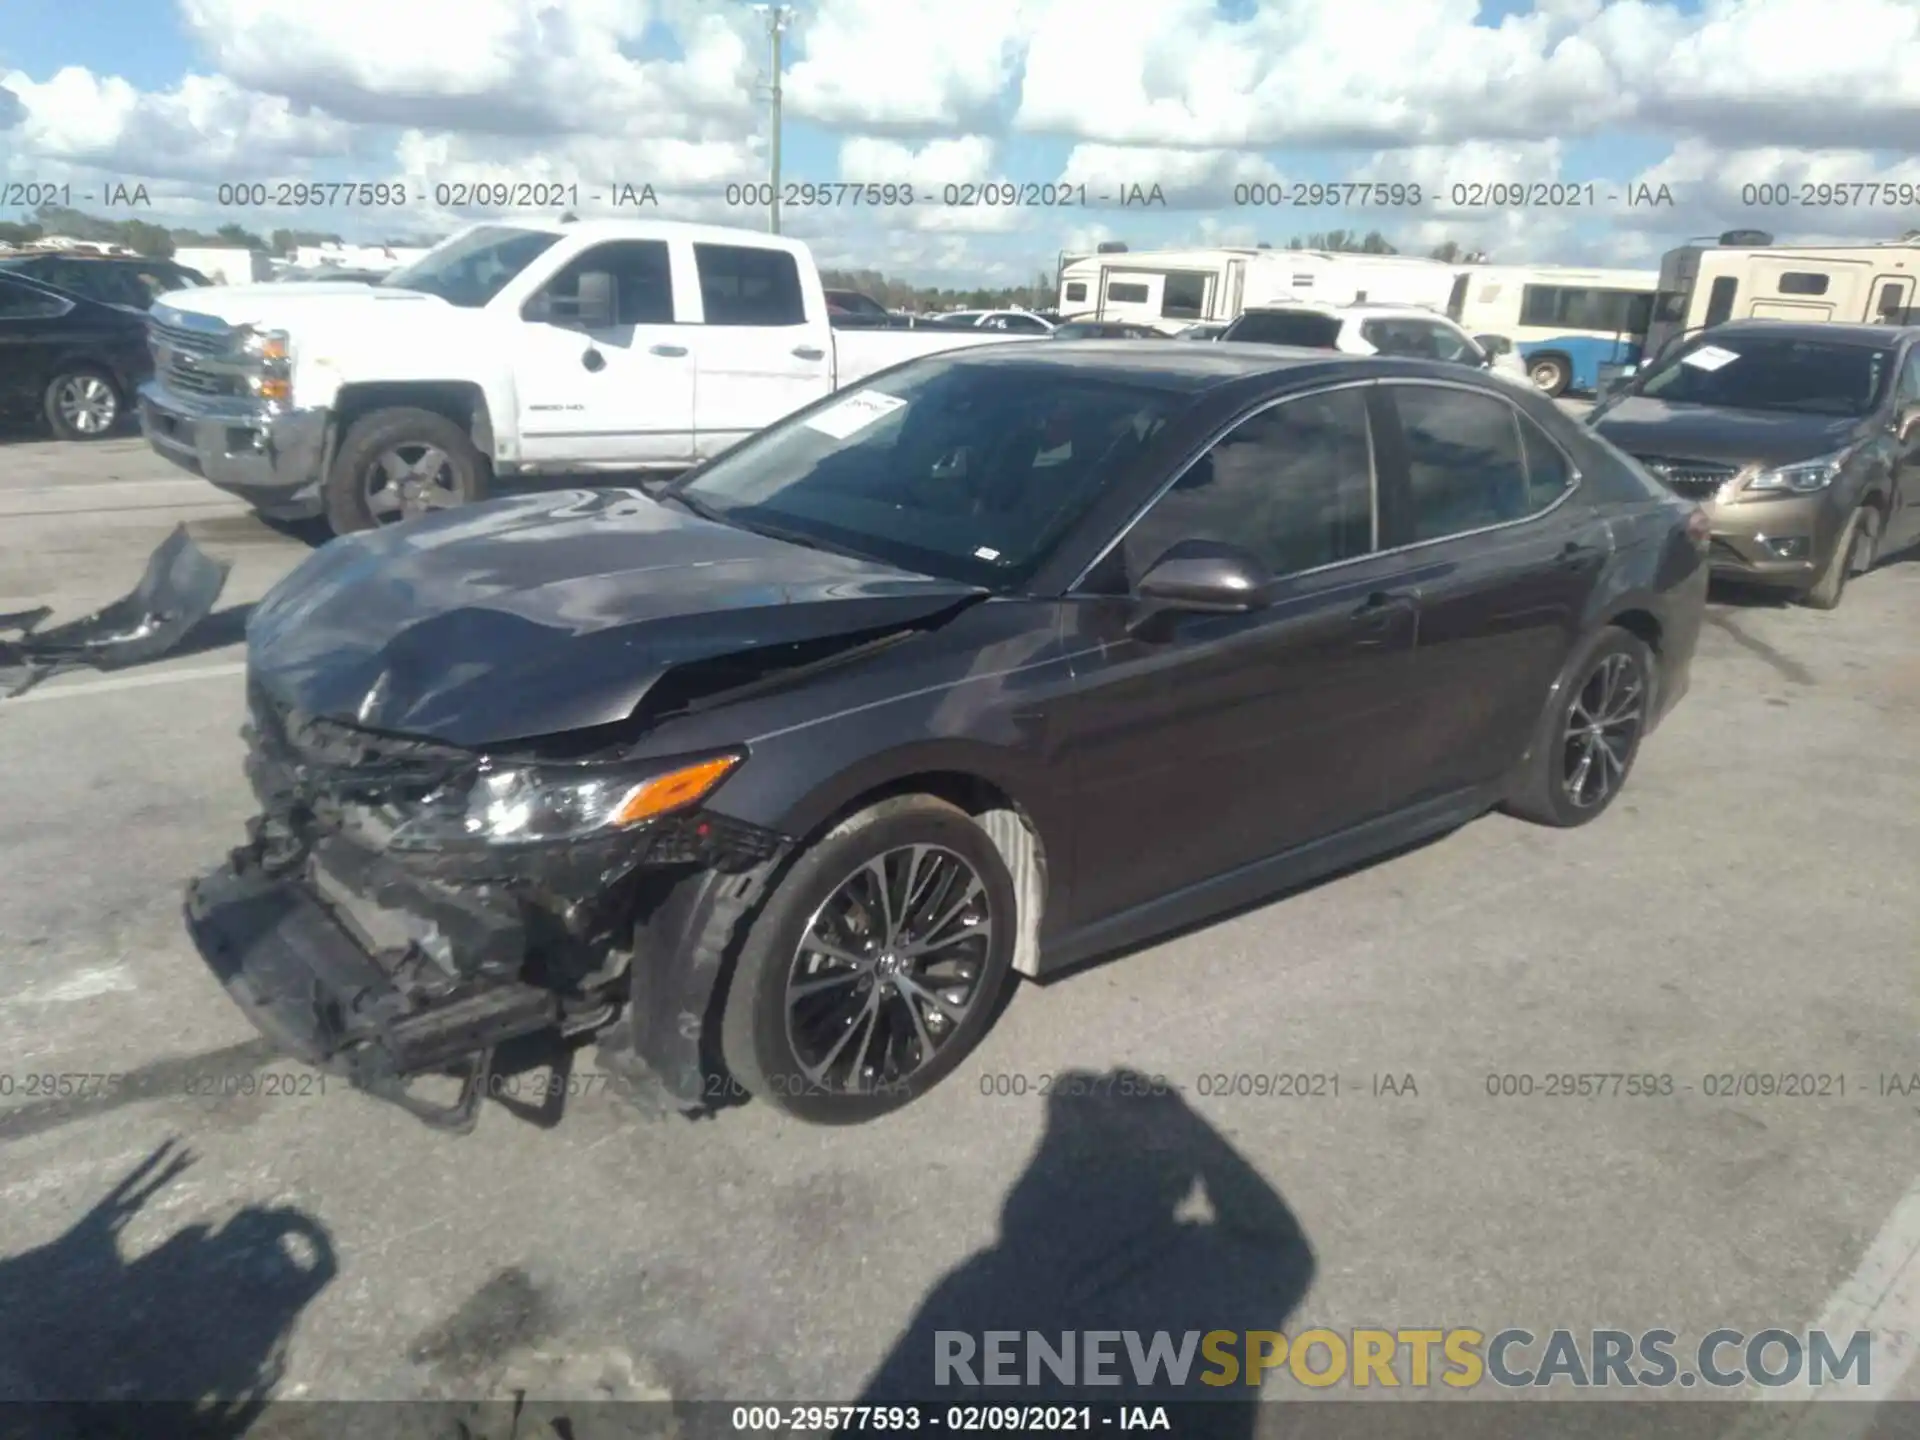
[[[1517,413],[1442,386],[1394,386],[1407,444],[1411,540],[1446,540],[1532,513]]]

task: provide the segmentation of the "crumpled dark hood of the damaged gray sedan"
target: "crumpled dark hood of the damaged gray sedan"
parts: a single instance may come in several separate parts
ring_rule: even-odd
[[[248,668],[305,714],[482,747],[624,720],[676,664],[981,593],[576,490],[326,543],[253,611]]]

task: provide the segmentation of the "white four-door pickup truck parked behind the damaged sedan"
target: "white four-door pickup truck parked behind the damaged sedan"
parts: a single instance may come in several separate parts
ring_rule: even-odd
[[[148,444],[334,532],[493,476],[684,470],[876,371],[1020,340],[837,330],[806,246],[670,221],[474,225],[378,284],[163,296],[150,336]]]

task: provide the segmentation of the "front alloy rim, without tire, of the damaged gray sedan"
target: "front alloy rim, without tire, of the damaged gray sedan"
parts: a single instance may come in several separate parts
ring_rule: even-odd
[[[979,874],[941,845],[841,879],[787,970],[787,1046],[806,1087],[864,1094],[922,1071],[973,1012],[993,922]]]

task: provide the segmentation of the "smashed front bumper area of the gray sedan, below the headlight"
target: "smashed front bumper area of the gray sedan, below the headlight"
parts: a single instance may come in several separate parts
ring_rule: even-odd
[[[724,1092],[705,1025],[724,947],[701,939],[778,835],[691,810],[570,845],[386,851],[340,822],[371,772],[303,762],[273,730],[255,699],[267,810],[186,895],[202,958],[271,1043],[451,1131],[478,1119],[495,1050],[528,1037],[603,1033],[603,1069],[655,1110]],[[426,783],[445,756],[419,749]],[[457,1096],[424,1098],[426,1075],[457,1077]]]

